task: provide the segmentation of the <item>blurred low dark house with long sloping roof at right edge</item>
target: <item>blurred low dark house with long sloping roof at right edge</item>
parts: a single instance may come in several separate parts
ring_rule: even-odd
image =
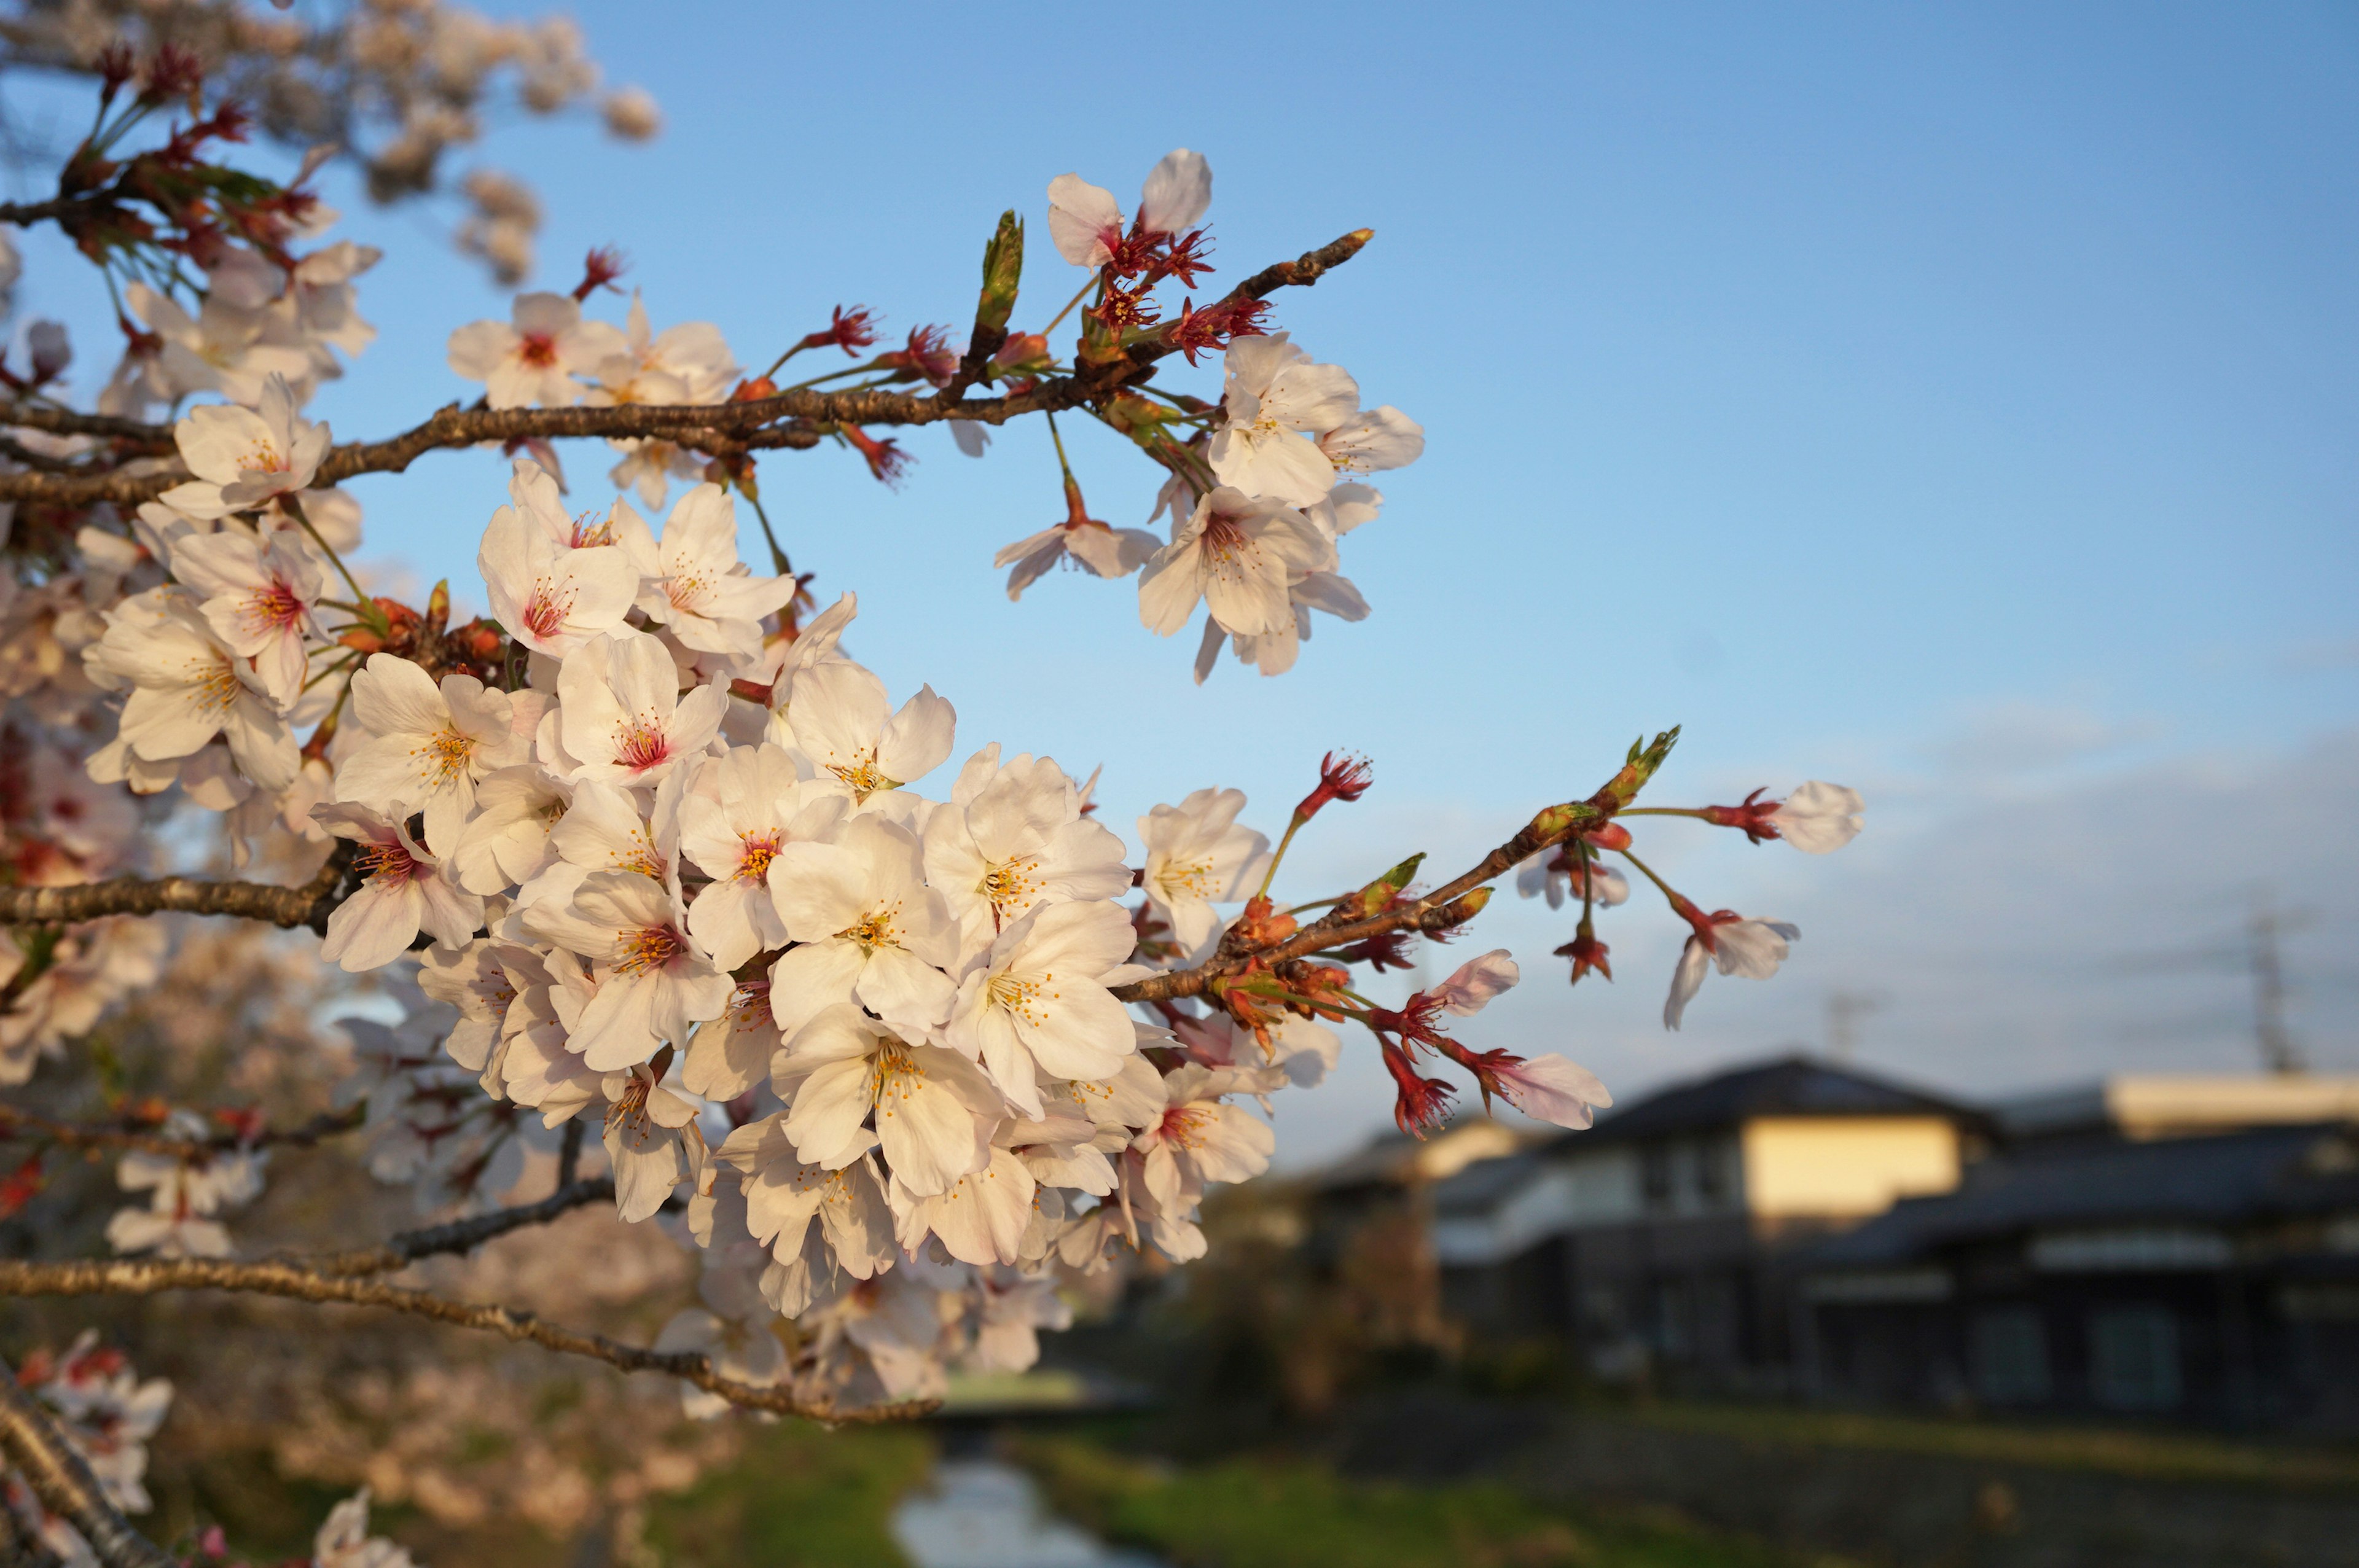
[[[1802,1384],[1831,1401],[2359,1431],[2359,1129],[2272,1113],[2352,1080],[2243,1080],[2265,1125],[2036,1122],[1956,1193],[1805,1259]],[[2083,1096],[2085,1101],[2088,1096]],[[2173,1132],[2170,1127],[2177,1127]]]

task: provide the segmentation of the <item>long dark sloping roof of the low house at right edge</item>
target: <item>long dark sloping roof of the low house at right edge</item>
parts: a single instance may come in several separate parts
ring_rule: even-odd
[[[1812,1250],[1809,1264],[1897,1264],[1967,1240],[2111,1224],[2225,1226],[2359,1205],[2347,1127],[2255,1127],[2201,1139],[2024,1151],[1967,1167],[1939,1198],[1906,1198]]]

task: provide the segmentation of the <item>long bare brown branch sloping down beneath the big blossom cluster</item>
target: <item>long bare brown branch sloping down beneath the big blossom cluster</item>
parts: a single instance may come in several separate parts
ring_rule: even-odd
[[[0,1261],[0,1294],[9,1297],[151,1297],[165,1290],[241,1290],[250,1294],[283,1297],[290,1302],[323,1302],[340,1306],[377,1306],[385,1311],[472,1327],[505,1339],[538,1344],[566,1356],[604,1361],[623,1372],[663,1372],[691,1382],[705,1394],[719,1394],[731,1405],[745,1410],[769,1410],[774,1415],[802,1415],[821,1422],[889,1422],[922,1415],[929,1403],[868,1405],[859,1410],[837,1408],[826,1398],[804,1398],[793,1389],[760,1389],[755,1384],[722,1377],[712,1363],[696,1351],[651,1351],[639,1344],[623,1344],[604,1335],[545,1323],[535,1313],[498,1306],[491,1302],[455,1302],[429,1290],[387,1285],[382,1280],[316,1273],[295,1264],[229,1264],[201,1257],[177,1259],[94,1259],[73,1264],[24,1264]],[[21,1394],[19,1394],[21,1398]],[[123,1559],[142,1568],[170,1559]]]

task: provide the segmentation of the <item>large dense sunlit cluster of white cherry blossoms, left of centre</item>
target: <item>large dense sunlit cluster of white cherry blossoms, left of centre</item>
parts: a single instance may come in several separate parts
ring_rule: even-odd
[[[1201,1252],[1205,1184],[1272,1151],[1231,1096],[1333,1061],[1307,1023],[1274,1059],[1236,1054],[1253,1066],[1142,1056],[1172,1042],[1109,993],[1146,969],[1116,903],[1125,849],[1083,785],[986,745],[946,799],[920,797],[951,705],[896,707],[842,655],[849,594],[788,639],[795,585],[736,559],[717,486],[656,531],[627,500],[569,516],[519,460],[479,554],[514,689],[373,653],[304,762],[293,724],[326,717],[307,681],[344,653],[314,615],[323,552],[288,526],[326,431],[271,380],[259,413],[198,408],[179,434],[201,479],[142,535],[172,580],[109,611],[87,658],[125,689],[92,773],[243,790],[356,842],[323,957],[370,971],[432,941],[420,986],[458,1012],[351,1026],[377,1174],[498,1191],[521,1170],[514,1108],[602,1118],[620,1214],[679,1193],[712,1250],[710,1311],[675,1339],[755,1346],[745,1375],[783,1375],[745,1327],[762,1302],[807,1320],[811,1375],[845,1398],[934,1389],[946,1353],[1029,1361],[1064,1311],[1057,1259],[1097,1266],[1113,1238]],[[1191,950],[1267,846],[1241,804],[1203,790],[1142,821],[1146,894]],[[467,1075],[491,1101],[453,1096]],[[217,1254],[215,1214],[252,1195],[259,1158],[130,1155],[123,1181],[156,1200],[118,1214],[118,1247]]]

